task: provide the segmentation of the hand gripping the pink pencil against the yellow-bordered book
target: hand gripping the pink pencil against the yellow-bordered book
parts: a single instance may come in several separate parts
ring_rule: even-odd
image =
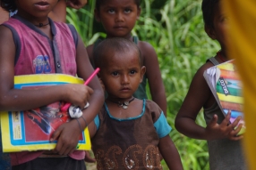
[[[90,101],[93,90],[87,85],[66,85],[64,101],[68,101],[81,109]]]

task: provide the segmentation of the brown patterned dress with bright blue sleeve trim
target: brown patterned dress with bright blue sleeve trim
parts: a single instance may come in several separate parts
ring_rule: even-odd
[[[171,127],[155,102],[143,100],[141,114],[127,119],[113,117],[105,104],[94,121],[98,131],[91,142],[98,170],[162,169],[158,142]]]

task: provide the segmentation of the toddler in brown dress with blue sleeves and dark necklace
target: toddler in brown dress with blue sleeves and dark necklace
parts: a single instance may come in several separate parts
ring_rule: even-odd
[[[132,96],[146,71],[138,46],[107,38],[97,46],[94,59],[108,94],[89,125],[98,169],[162,169],[159,151],[170,169],[183,169],[163,111],[154,101]]]

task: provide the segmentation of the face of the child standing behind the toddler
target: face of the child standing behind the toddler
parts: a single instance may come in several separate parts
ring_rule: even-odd
[[[109,0],[101,4],[95,17],[107,32],[107,37],[129,37],[141,8],[133,0]]]

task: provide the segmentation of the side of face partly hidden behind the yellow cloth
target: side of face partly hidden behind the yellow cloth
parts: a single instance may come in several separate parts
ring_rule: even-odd
[[[218,43],[221,45],[221,49],[226,49],[226,38],[228,31],[228,17],[226,16],[226,12],[223,8],[221,8],[221,3],[218,4],[216,8],[213,26],[214,28],[206,28],[208,35],[212,39],[218,40]]]

